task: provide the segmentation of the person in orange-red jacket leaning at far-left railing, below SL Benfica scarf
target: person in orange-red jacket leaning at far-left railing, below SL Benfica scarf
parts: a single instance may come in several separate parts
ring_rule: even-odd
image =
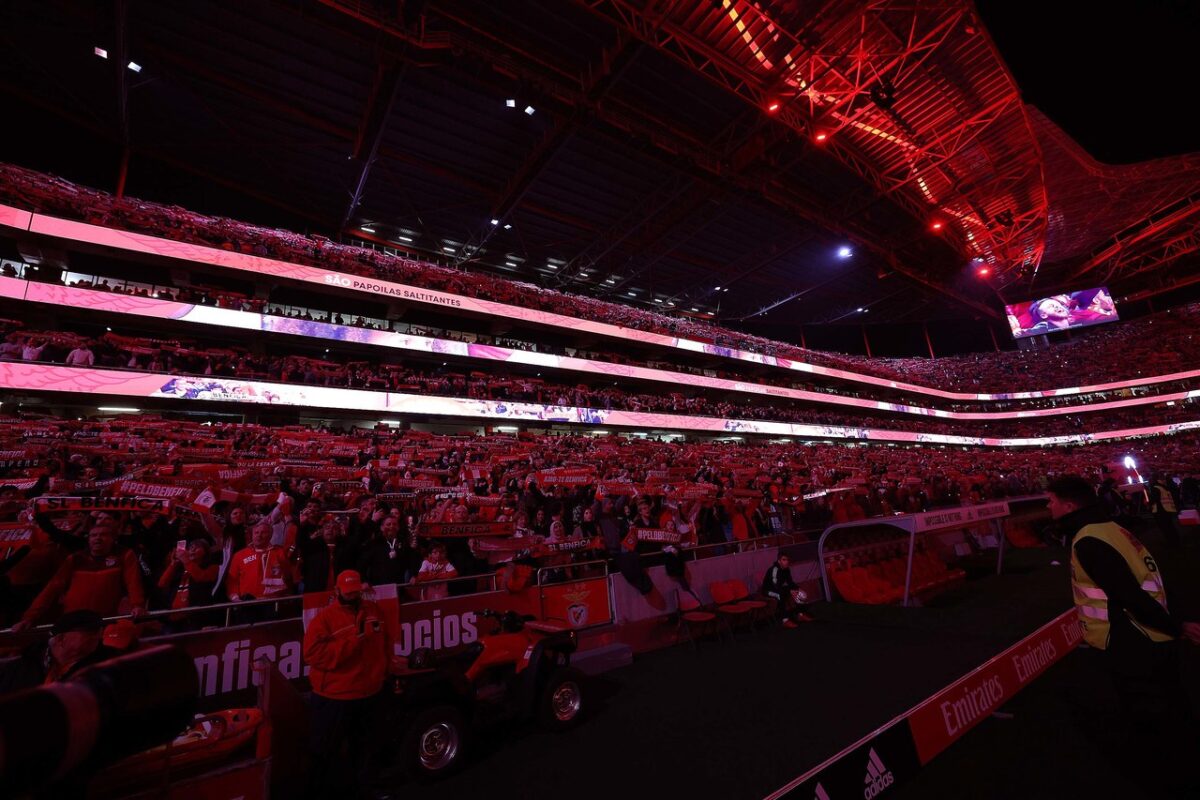
[[[110,525],[97,524],[88,531],[88,549],[72,553],[62,563],[13,630],[28,628],[55,607],[58,613],[89,609],[113,616],[126,599],[131,614],[145,613],[138,560],[132,551],[116,548],[116,533]]]

